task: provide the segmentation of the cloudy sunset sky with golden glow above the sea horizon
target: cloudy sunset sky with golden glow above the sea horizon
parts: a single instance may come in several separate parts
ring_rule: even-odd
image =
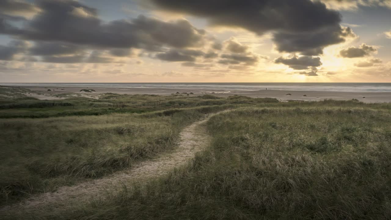
[[[391,83],[391,0],[0,0],[0,82]]]

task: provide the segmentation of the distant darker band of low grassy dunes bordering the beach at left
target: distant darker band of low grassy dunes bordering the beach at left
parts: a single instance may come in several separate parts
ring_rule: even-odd
[[[0,90],[2,87],[0,87]],[[11,90],[14,89],[14,90]],[[99,94],[99,99],[76,97],[64,94],[62,100],[38,100],[25,96],[15,88],[9,94],[18,94],[17,99],[0,96],[0,118],[47,118],[82,115],[105,115],[112,113],[145,113],[172,108],[188,108],[213,105],[257,105],[278,103],[276,99],[251,99],[243,96],[215,97],[211,95],[172,96]],[[57,96],[62,97],[61,94]],[[2,101],[2,102],[1,102]]]

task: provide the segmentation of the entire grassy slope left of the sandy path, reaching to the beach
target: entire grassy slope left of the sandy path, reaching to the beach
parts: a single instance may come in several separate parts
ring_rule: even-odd
[[[206,113],[276,102],[118,94],[41,101],[26,97],[29,90],[0,88],[7,94],[0,100],[7,118],[0,121],[0,204],[129,168],[174,146],[180,130]]]

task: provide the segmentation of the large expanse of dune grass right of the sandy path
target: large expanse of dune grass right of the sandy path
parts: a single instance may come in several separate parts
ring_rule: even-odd
[[[43,219],[388,219],[391,115],[244,107],[213,116],[213,144],[168,177]],[[374,105],[371,105],[374,106]],[[23,214],[22,214],[23,215]]]

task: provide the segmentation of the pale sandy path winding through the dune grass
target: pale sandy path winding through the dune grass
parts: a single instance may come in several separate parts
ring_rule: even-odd
[[[202,121],[187,126],[180,133],[178,147],[163,153],[153,160],[146,160],[126,171],[118,171],[107,177],[90,182],[83,182],[75,186],[65,186],[56,192],[43,193],[23,200],[19,204],[6,206],[0,211],[27,210],[27,209],[56,209],[70,205],[74,202],[90,200],[91,197],[99,198],[106,192],[115,192],[122,189],[122,184],[132,181],[143,181],[151,177],[159,177],[171,171],[174,167],[187,164],[195,153],[203,150],[210,143],[210,137],[206,133],[205,117]]]

